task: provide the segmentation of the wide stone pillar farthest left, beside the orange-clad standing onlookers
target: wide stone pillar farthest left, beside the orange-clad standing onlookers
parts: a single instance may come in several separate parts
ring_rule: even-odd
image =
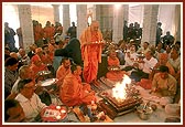
[[[19,4],[18,10],[19,10],[18,12],[19,12],[20,27],[22,29],[22,35],[23,35],[23,47],[25,51],[29,51],[30,44],[34,43],[31,6]]]

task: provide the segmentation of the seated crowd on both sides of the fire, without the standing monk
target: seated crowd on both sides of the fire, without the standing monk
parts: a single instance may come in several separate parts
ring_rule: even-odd
[[[35,23],[35,22],[34,22]],[[37,23],[35,23],[35,30]],[[108,72],[105,77],[119,82],[127,74],[137,84],[146,83],[151,94],[166,97],[167,103],[178,103],[181,95],[181,50],[179,42],[171,46],[156,46],[150,42],[138,45],[120,40],[118,44],[104,45]],[[42,46],[41,46],[42,45]],[[42,110],[50,106],[51,94],[68,107],[86,105],[90,109],[97,103],[96,93],[81,75],[83,60],[80,43],[76,38],[66,36],[59,42],[46,38],[12,52],[4,49],[4,120],[41,121]],[[123,66],[123,67],[120,67]],[[55,88],[46,91],[41,86],[45,80],[42,71],[51,72],[48,77],[57,78]],[[44,95],[43,95],[44,94]],[[90,120],[91,114],[88,114]]]

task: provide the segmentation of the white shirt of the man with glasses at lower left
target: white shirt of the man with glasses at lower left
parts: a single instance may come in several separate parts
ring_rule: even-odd
[[[20,102],[28,121],[33,121],[41,110],[46,107],[35,93],[30,99],[25,98],[22,94],[18,94],[15,99]]]

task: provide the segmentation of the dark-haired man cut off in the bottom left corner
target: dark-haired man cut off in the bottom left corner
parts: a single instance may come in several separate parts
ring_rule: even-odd
[[[4,121],[6,123],[21,123],[24,121],[24,112],[15,99],[4,100]]]

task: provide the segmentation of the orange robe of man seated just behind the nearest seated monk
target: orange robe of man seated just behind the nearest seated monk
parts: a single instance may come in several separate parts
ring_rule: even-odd
[[[56,71],[56,78],[58,80],[57,86],[61,87],[64,81],[64,77],[70,73],[70,68],[65,68],[64,65],[61,65]]]

